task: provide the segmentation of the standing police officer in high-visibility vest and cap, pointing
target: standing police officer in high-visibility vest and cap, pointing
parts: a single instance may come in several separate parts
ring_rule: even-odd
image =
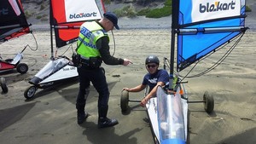
[[[113,26],[119,30],[118,18],[115,14],[107,12],[101,20],[84,22],[80,26],[77,54],[80,56],[79,95],[76,108],[78,124],[84,123],[88,113],[84,112],[87,96],[89,95],[90,82],[99,93],[98,98],[98,128],[105,128],[118,124],[116,119],[107,117],[109,90],[105,73],[100,67],[102,61],[107,65],[127,66],[131,60],[115,58],[109,52],[108,31]]]

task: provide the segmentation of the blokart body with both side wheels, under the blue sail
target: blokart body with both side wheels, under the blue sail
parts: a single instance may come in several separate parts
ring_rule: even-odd
[[[167,86],[167,85],[166,85]],[[168,91],[168,92],[167,92]],[[145,95],[148,89],[145,89]],[[207,113],[214,108],[214,99],[206,91],[202,101],[188,101],[187,91],[183,83],[175,85],[175,92],[158,86],[156,97],[149,99],[146,104],[148,118],[151,124],[154,142],[158,144],[185,144],[189,143],[189,103],[203,103]],[[122,91],[120,107],[122,112],[129,109],[129,92]]]

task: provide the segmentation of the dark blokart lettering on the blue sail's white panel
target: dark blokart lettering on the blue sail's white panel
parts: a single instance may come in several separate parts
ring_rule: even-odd
[[[236,2],[231,1],[230,3],[207,3],[206,5],[200,4],[199,11],[200,13],[208,13],[208,12],[216,12],[216,11],[223,11],[229,9],[235,9]]]

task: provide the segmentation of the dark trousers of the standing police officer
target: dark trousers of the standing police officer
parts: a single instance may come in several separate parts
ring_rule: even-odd
[[[89,95],[90,82],[99,94],[98,114],[99,118],[106,118],[108,113],[108,84],[105,73],[102,68],[88,69],[84,66],[78,67],[79,72],[79,95],[77,97],[76,107],[79,112],[84,112],[84,107]]]

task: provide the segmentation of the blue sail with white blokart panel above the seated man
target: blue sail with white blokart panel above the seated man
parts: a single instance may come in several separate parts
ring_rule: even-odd
[[[245,0],[180,0],[177,72],[245,32]]]

